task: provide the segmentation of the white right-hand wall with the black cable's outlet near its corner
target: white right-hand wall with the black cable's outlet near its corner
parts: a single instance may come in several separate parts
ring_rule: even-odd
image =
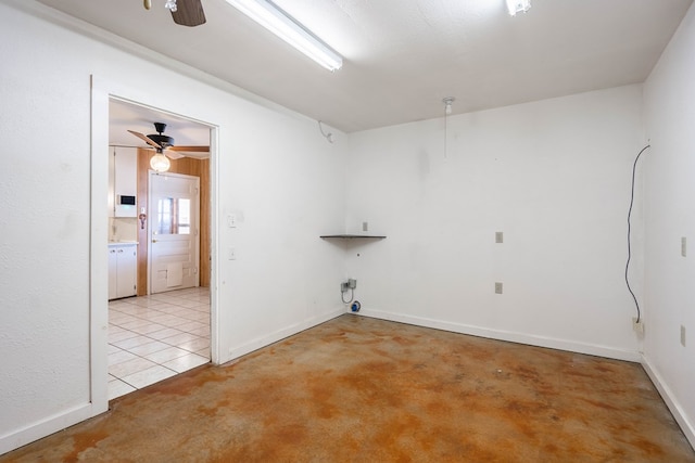
[[[645,170],[645,360],[695,442],[695,9],[644,86],[652,149]],[[688,240],[681,256],[681,237]],[[686,330],[681,345],[681,325]],[[695,445],[695,443],[694,443]]]

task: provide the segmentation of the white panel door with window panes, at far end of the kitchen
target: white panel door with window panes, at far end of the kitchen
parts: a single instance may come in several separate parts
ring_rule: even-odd
[[[198,286],[200,178],[150,172],[150,293]]]

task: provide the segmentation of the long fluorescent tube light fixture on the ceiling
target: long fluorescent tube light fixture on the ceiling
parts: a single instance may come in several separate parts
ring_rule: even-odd
[[[324,66],[340,69],[343,59],[289,14],[267,0],[227,0],[227,3]]]

